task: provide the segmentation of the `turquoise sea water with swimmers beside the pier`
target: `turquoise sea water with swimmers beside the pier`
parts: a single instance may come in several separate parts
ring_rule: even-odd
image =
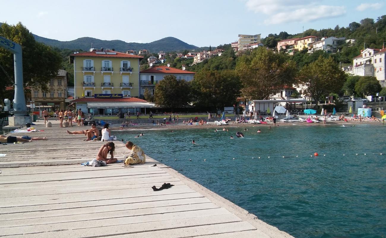
[[[114,135],[295,237],[386,237],[386,125],[186,128]]]

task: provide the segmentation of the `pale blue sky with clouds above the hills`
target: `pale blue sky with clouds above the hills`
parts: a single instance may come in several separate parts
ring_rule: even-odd
[[[0,22],[22,22],[30,32],[59,41],[149,43],[172,36],[198,47],[229,44],[238,34],[264,38],[301,33],[303,27],[347,27],[364,18],[376,21],[386,12],[381,0],[19,0],[19,9],[2,6]]]

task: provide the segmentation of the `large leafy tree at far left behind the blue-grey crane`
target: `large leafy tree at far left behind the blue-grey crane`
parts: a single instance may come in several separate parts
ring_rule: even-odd
[[[22,46],[24,86],[31,85],[33,81],[38,87],[46,89],[47,82],[56,77],[61,67],[60,55],[51,47],[35,41],[32,33],[20,22],[15,26],[2,24],[0,36]],[[5,86],[12,86],[15,79],[14,56],[3,48],[0,48],[0,65],[5,71],[0,70],[0,95],[5,95]]]

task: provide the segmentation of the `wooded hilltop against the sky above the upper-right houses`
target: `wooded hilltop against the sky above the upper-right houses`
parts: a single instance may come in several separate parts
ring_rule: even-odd
[[[335,26],[334,29],[308,29],[303,33],[288,34],[285,31],[279,34],[269,34],[266,38],[262,39],[265,46],[269,48],[276,48],[277,42],[283,39],[302,38],[305,36],[318,36],[318,37],[345,37],[346,39],[355,39],[355,44],[349,45],[342,44],[339,52],[341,58],[337,59],[342,63],[352,62],[352,58],[359,55],[361,50],[366,48],[382,48],[383,43],[386,41],[386,15],[378,17],[376,21],[371,18],[362,19],[358,22],[351,22],[347,27]]]

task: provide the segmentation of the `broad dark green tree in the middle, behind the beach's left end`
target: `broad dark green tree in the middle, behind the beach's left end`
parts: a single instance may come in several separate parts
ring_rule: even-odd
[[[203,70],[192,81],[195,106],[223,108],[236,103],[240,79],[233,70]]]

